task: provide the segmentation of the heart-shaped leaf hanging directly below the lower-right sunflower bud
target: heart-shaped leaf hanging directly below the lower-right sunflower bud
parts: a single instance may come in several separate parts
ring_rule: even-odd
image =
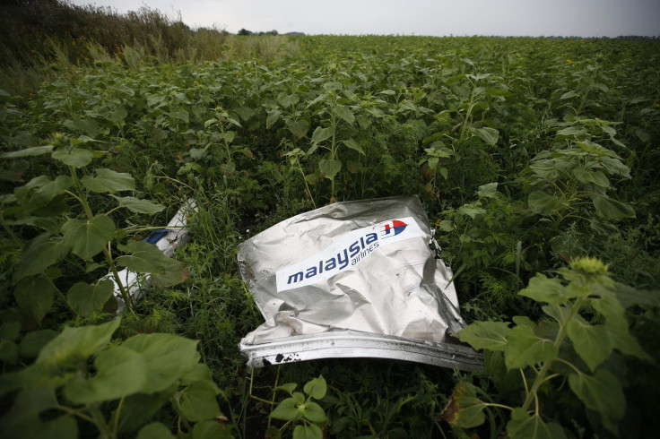
[[[591,325],[579,317],[567,323],[567,331],[573,348],[593,371],[612,353],[610,334],[602,324]]]

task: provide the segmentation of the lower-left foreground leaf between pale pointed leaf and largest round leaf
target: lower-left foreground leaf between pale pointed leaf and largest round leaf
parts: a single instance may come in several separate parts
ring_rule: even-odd
[[[151,392],[146,387],[149,373],[142,355],[119,345],[101,352],[94,361],[97,374],[67,383],[65,396],[74,404],[118,400],[136,392]]]

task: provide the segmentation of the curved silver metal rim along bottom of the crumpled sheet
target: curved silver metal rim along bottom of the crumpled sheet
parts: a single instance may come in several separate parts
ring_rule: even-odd
[[[432,366],[483,370],[483,355],[472,348],[357,331],[331,331],[266,343],[239,343],[247,367],[280,365],[318,358],[389,358]]]

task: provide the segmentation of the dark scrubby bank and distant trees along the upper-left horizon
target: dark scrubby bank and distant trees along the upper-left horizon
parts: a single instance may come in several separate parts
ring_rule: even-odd
[[[91,1],[91,0],[90,0]],[[111,56],[124,46],[141,45],[151,53],[165,51],[175,56],[193,40],[222,41],[230,35],[214,28],[191,29],[178,18],[143,6],[137,11],[117,10],[92,4],[79,6],[70,0],[0,0],[0,65],[30,64],[30,59],[53,52],[53,43],[64,48],[71,62],[89,56],[88,42],[103,47]],[[277,30],[239,35],[278,35]]]

